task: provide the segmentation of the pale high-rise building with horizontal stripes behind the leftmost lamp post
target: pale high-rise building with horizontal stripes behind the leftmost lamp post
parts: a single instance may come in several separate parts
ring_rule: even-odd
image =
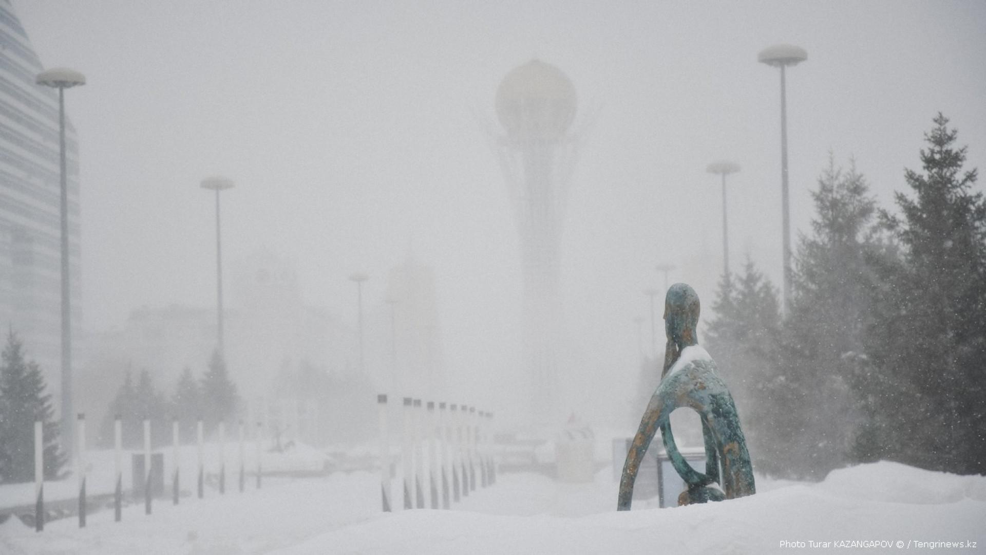
[[[0,328],[24,341],[59,398],[61,257],[58,92],[8,0],[0,0]],[[79,141],[65,121],[72,337],[81,338]],[[77,342],[78,343],[78,342]],[[79,345],[73,351],[80,351]],[[74,420],[73,420],[74,422]]]

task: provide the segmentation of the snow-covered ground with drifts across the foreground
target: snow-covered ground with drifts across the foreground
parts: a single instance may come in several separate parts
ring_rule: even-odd
[[[986,477],[880,462],[818,484],[757,486],[740,500],[616,513],[611,468],[583,485],[502,474],[453,511],[384,514],[378,475],[335,473],[159,502],[150,516],[132,506],[122,522],[103,511],[82,529],[66,518],[37,533],[11,518],[0,525],[0,553],[986,553]],[[962,546],[929,543],[949,541]]]

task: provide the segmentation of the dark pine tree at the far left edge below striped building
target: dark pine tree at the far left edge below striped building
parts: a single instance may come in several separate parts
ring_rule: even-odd
[[[0,366],[0,482],[35,479],[35,421],[44,436],[44,478],[59,477],[65,455],[58,448],[58,424],[54,421],[51,395],[40,367],[24,357],[24,344],[13,331]]]

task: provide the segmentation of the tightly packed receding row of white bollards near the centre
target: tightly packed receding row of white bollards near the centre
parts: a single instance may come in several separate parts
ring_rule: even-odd
[[[381,501],[393,510],[387,394],[377,396],[380,411]],[[450,509],[477,485],[496,482],[496,463],[489,429],[493,414],[475,407],[404,397],[400,442],[403,508]],[[396,469],[397,465],[393,465]],[[427,491],[428,495],[425,495]],[[426,502],[427,500],[427,502]]]

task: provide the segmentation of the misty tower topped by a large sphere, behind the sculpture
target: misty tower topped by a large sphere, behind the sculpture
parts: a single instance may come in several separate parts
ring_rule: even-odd
[[[535,424],[557,421],[561,302],[558,250],[577,140],[572,81],[532,59],[504,77],[496,95],[503,126],[496,146],[516,213],[524,268],[524,359]]]

